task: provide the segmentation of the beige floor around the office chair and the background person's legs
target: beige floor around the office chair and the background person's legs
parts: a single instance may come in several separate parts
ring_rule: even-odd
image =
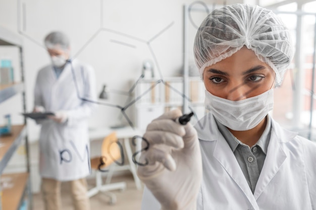
[[[88,179],[89,188],[95,183],[93,179]],[[90,198],[91,210],[106,209],[106,210],[140,210],[142,190],[137,190],[132,175],[121,175],[112,178],[112,182],[125,181],[127,188],[124,191],[113,190],[111,192],[117,195],[117,202],[109,204],[109,198],[102,192]],[[69,185],[62,184],[62,205],[63,210],[73,209],[71,197],[69,195]],[[33,210],[44,209],[41,194],[33,195]]]

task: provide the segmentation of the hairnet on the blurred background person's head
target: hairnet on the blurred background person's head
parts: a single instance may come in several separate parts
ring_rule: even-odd
[[[48,49],[59,48],[59,49],[67,50],[70,45],[68,36],[59,31],[54,31],[54,32],[49,33],[45,37],[44,43]]]

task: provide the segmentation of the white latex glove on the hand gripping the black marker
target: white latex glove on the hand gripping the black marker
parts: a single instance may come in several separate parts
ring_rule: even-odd
[[[149,149],[142,152],[137,173],[161,203],[162,210],[195,210],[202,179],[202,163],[196,130],[175,119],[180,110],[172,110],[153,120],[144,138]],[[143,143],[144,146],[144,143]]]

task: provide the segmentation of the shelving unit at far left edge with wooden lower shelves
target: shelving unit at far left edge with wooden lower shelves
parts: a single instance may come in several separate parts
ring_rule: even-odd
[[[4,46],[16,47],[19,50],[21,82],[9,85],[0,85],[0,103],[7,103],[8,99],[17,94],[22,94],[22,109],[25,112],[26,98],[24,85],[22,38],[19,35],[0,27],[0,47]],[[14,112],[14,110],[8,111]],[[25,143],[26,171],[15,174],[4,174],[4,169],[22,143]],[[29,148],[26,132],[26,120],[24,119],[24,124],[12,125],[11,135],[0,137],[0,181],[2,181],[2,185],[0,185],[1,210],[32,209],[29,172]],[[6,180],[10,181],[6,183]],[[25,203],[27,203],[26,207]]]

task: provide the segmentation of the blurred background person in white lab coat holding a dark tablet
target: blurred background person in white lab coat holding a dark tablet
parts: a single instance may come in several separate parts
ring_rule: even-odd
[[[69,39],[61,32],[45,38],[52,64],[40,69],[34,91],[34,111],[55,113],[41,124],[39,168],[46,210],[61,209],[60,185],[70,181],[76,210],[90,209],[85,177],[90,173],[88,117],[95,105],[93,68],[68,60]]]

